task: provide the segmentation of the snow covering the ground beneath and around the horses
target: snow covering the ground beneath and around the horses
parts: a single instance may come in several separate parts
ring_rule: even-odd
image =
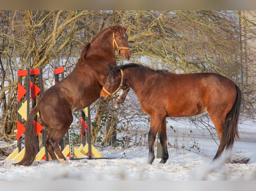
[[[241,137],[254,136],[254,123],[240,124]],[[180,131],[188,131],[182,125],[177,125]],[[189,127],[191,129],[191,127]],[[244,163],[224,163],[224,158],[212,162],[218,145],[212,139],[200,138],[206,134],[202,129],[193,128],[194,138],[199,149],[188,151],[184,148],[174,148],[173,134],[168,133],[169,159],[165,164],[159,164],[160,158],[155,158],[152,165],[146,164],[147,146],[132,146],[101,148],[95,146],[108,159],[70,160],[68,164],[53,161],[35,162],[32,166],[14,166],[12,160],[0,161],[0,180],[256,180],[256,147],[255,139],[237,141],[232,150],[232,160]],[[245,139],[246,140],[246,139]],[[249,139],[248,139],[249,140]],[[157,147],[155,146],[155,155]]]

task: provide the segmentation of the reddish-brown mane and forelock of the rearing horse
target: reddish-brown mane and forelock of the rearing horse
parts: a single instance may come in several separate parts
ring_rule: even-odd
[[[122,26],[120,26],[120,25],[115,25],[115,26],[113,26],[113,28],[115,28],[117,30],[116,33],[119,36],[122,36],[125,33],[125,29]],[[95,41],[95,39],[97,39],[99,36],[101,36],[102,33],[104,33],[106,30],[110,30],[109,27],[104,29],[104,30],[102,30],[102,31],[100,31],[98,33],[98,35],[93,38],[91,43],[93,43],[93,41]],[[80,60],[81,61],[85,61],[86,55],[87,55],[87,53],[88,53],[88,51],[89,51],[89,49],[91,47],[91,43],[87,43],[84,46],[82,46],[82,52],[81,52],[81,56],[80,56]]]

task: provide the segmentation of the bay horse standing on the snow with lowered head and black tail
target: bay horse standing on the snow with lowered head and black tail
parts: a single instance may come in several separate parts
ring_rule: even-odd
[[[109,67],[100,96],[107,99],[121,88],[125,91],[118,100],[120,104],[132,88],[142,110],[150,115],[147,163],[152,164],[155,158],[154,141],[158,131],[162,146],[160,163],[165,163],[169,157],[166,117],[189,117],[208,112],[220,139],[214,159],[225,148],[232,149],[234,139],[239,139],[242,94],[228,78],[217,73],[175,74],[134,63]]]

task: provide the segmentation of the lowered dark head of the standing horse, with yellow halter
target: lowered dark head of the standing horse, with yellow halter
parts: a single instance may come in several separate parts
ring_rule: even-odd
[[[123,88],[123,71],[115,66],[109,65],[109,67],[111,69],[100,93],[100,97],[103,97],[103,99],[112,97],[118,90]]]

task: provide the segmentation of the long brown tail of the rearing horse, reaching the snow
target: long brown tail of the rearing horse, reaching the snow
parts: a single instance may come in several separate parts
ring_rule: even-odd
[[[37,106],[35,106],[27,117],[27,121],[25,124],[25,133],[24,133],[25,155],[20,162],[15,163],[14,165],[30,166],[35,160],[36,154],[38,153],[38,150],[39,150],[39,145],[35,135],[33,121],[38,111],[39,109],[37,108]]]

